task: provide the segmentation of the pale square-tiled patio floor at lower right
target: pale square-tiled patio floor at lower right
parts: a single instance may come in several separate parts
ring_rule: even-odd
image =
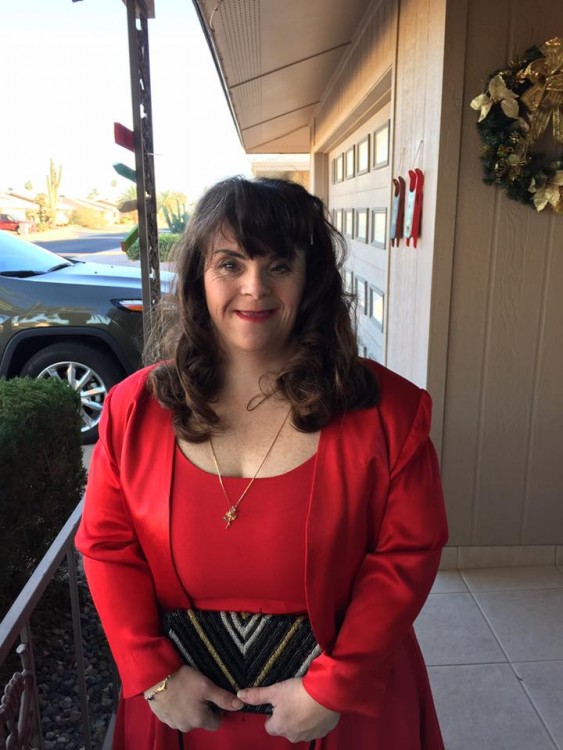
[[[415,628],[446,750],[563,750],[563,568],[441,571]]]

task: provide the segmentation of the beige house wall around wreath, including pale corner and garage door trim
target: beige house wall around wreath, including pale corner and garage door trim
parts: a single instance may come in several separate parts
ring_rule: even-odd
[[[469,108],[556,34],[560,0],[374,0],[312,124],[325,199],[326,154],[387,102],[392,175],[424,172],[418,248],[389,249],[386,364],[434,399],[456,547],[563,543],[563,217],[482,183]]]

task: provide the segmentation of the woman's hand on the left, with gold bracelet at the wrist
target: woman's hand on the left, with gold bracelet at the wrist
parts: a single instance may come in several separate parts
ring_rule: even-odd
[[[221,723],[221,709],[239,711],[243,706],[235,695],[188,666],[180,667],[168,681],[166,690],[148,704],[160,721],[181,732],[191,729],[214,732]]]

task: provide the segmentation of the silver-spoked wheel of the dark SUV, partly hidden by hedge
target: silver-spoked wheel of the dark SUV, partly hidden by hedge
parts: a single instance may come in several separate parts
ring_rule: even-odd
[[[110,357],[81,344],[52,344],[41,349],[26,362],[20,375],[56,378],[80,395],[84,443],[97,439],[98,422],[108,391],[123,378]]]

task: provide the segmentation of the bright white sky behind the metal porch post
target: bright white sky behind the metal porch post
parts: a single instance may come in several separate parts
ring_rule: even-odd
[[[156,0],[149,21],[157,191],[189,199],[248,159],[191,0]],[[133,166],[113,141],[132,127],[127,16],[122,0],[0,0],[0,191],[45,191],[52,157],[60,191],[113,197],[129,185],[112,168]],[[117,179],[117,188],[111,187]]]

